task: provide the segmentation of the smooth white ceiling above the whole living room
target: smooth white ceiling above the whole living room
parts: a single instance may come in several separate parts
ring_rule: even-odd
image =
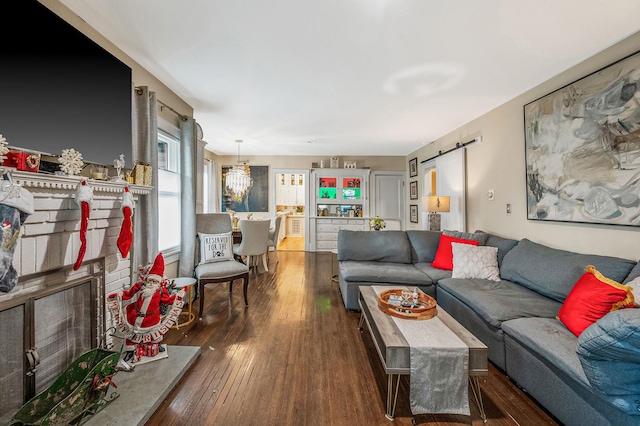
[[[60,1],[230,155],[407,155],[640,29],[638,0]]]

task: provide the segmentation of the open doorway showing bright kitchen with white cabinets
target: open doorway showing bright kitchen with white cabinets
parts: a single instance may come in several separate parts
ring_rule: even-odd
[[[272,211],[280,216],[278,251],[305,251],[309,224],[309,170],[274,169]]]

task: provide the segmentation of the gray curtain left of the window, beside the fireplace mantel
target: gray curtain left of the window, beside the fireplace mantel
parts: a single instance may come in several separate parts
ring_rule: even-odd
[[[133,215],[131,273],[135,278],[138,267],[158,254],[158,108],[155,92],[146,86],[136,87],[133,99],[133,164],[140,161],[153,168],[153,188],[138,197]]]

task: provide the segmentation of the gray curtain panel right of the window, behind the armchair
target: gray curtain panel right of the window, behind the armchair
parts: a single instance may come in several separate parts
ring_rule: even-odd
[[[181,277],[193,276],[195,266],[196,238],[196,121],[191,117],[180,120],[180,191],[181,236],[180,263]]]

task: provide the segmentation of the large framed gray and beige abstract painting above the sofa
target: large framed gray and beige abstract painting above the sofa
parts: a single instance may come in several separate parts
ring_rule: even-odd
[[[524,106],[527,218],[640,225],[640,53]]]

